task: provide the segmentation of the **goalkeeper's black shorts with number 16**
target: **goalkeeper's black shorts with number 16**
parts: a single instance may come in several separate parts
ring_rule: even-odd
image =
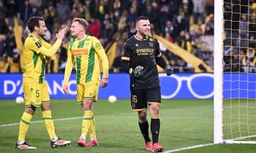
[[[160,86],[147,89],[131,89],[131,108],[135,111],[147,109],[148,104],[161,103]]]

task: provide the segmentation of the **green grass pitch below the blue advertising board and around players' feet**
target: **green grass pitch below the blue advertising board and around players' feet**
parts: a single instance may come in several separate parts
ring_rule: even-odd
[[[164,150],[179,149],[193,145],[212,143],[213,141],[213,101],[212,99],[170,99],[163,100],[160,108],[161,131],[159,142]],[[130,109],[128,99],[119,99],[108,103],[104,99],[94,103],[97,138],[99,147],[77,147],[81,134],[83,111],[75,99],[52,99],[52,117],[78,119],[54,121],[56,133],[61,138],[72,141],[65,148],[51,149],[49,137],[42,122],[31,123],[26,141],[37,147],[36,150],[17,150],[15,143],[19,126],[0,127],[0,152],[147,152],[143,137],[138,128],[138,115]],[[20,120],[23,105],[17,105],[13,99],[0,100],[0,125],[17,123]],[[148,115],[150,120],[150,116]],[[38,108],[32,119],[42,120]],[[211,145],[179,152],[255,152],[254,145]]]

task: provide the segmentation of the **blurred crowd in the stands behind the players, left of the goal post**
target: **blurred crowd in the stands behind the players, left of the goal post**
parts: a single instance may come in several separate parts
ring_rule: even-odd
[[[225,7],[228,9],[234,7],[227,5]],[[66,25],[70,27],[75,17],[88,20],[88,34],[99,38],[104,47],[115,40],[117,33],[121,34],[117,40],[116,58],[110,69],[119,72],[122,45],[136,33],[135,18],[144,15],[150,19],[152,34],[163,36],[213,68],[213,13],[214,0],[0,0],[0,70],[1,73],[22,71],[19,62],[22,50],[17,47],[13,33],[15,17],[22,26],[21,37],[24,41],[29,34],[26,22],[32,16],[45,18],[48,31],[44,39],[49,43],[56,40],[56,31]],[[251,19],[254,21],[255,18]],[[243,27],[246,28],[246,25]],[[234,34],[232,31],[225,32],[227,36]],[[238,36],[242,41],[242,34]],[[205,37],[207,42],[204,41]],[[70,39],[67,34],[58,53],[48,59],[47,73],[63,72]],[[160,46],[164,58],[176,72],[193,72],[188,62],[169,52],[163,44]],[[246,50],[244,54],[247,54]]]

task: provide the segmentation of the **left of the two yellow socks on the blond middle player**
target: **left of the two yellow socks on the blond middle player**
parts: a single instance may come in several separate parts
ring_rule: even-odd
[[[86,138],[92,122],[92,110],[85,110],[82,123],[82,135]]]

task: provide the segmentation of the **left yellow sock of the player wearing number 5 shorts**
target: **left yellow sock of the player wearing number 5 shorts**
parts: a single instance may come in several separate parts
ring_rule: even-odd
[[[26,134],[28,132],[29,123],[32,119],[33,115],[24,112],[21,119],[20,119],[20,129],[19,129],[19,136],[18,141],[25,141]]]

